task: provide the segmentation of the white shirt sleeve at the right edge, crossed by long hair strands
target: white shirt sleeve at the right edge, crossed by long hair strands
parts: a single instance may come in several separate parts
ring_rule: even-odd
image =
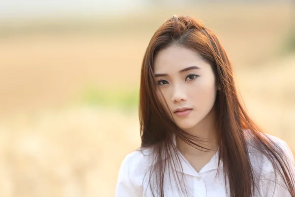
[[[280,148],[282,148],[282,150],[287,155],[289,159],[288,163],[290,164],[290,168],[291,168],[290,175],[295,178],[295,162],[294,162],[294,156],[290,147],[283,140],[280,140],[278,145],[280,146]],[[292,197],[279,172],[277,172],[276,176],[273,171],[265,174],[261,178],[260,184],[263,190],[262,191],[263,197]]]

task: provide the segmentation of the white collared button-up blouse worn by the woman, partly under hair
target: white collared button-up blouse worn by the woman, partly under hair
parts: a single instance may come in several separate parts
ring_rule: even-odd
[[[286,152],[291,163],[294,164],[294,157],[287,143],[275,136],[268,136],[270,136],[274,142]],[[270,161],[255,150],[256,149],[251,149],[249,147],[251,164],[254,167],[254,170],[259,173],[258,176],[260,180],[259,193],[255,196],[291,197],[283,180],[279,178],[279,174],[277,174],[277,177],[274,176],[273,167]],[[147,152],[148,150],[146,153]],[[152,159],[151,156],[146,153],[144,152],[144,154],[142,154],[141,151],[136,150],[129,153],[124,158],[119,169],[115,197],[152,197],[150,187],[148,187],[149,172],[147,172]],[[217,174],[219,151],[216,152],[211,160],[199,172],[188,163],[179,151],[178,154],[180,156],[180,163],[185,177],[185,185],[192,197],[230,196],[229,193],[226,192],[222,161],[219,164],[219,173]],[[180,172],[179,170],[177,171]],[[169,173],[165,173],[165,196],[183,196],[178,193],[176,181],[177,180],[174,179],[174,176],[169,176]],[[229,191],[229,184],[227,184],[227,191]]]

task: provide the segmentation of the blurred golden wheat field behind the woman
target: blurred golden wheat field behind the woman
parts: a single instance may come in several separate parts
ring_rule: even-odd
[[[288,5],[159,10],[106,19],[85,31],[39,32],[35,25],[21,33],[5,26],[1,197],[114,196],[120,162],[140,146],[141,61],[156,28],[175,13],[212,28],[232,60],[249,113],[295,149],[295,53],[280,54],[290,26]],[[85,97],[89,87],[98,90],[91,99]],[[131,101],[122,101],[130,92]]]

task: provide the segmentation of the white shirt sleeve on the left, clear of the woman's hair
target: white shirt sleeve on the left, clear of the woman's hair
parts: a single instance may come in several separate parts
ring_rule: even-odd
[[[140,191],[134,186],[130,177],[129,162],[130,155],[127,155],[121,163],[118,173],[115,197],[141,197]]]

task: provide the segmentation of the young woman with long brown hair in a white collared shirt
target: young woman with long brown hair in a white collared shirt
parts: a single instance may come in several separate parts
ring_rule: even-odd
[[[123,160],[116,197],[295,197],[293,154],[239,98],[216,35],[173,16],[141,69],[141,147]]]

